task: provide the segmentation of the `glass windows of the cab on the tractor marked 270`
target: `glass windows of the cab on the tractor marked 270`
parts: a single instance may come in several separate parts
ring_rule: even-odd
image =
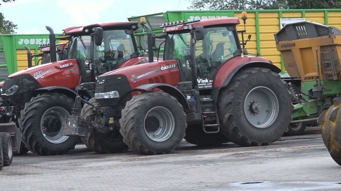
[[[90,60],[90,46],[94,46],[93,63],[99,75],[116,69],[136,52],[131,34],[127,34],[125,30],[106,30],[103,31],[101,46],[92,44],[90,36],[72,37],[69,42],[68,58]]]

